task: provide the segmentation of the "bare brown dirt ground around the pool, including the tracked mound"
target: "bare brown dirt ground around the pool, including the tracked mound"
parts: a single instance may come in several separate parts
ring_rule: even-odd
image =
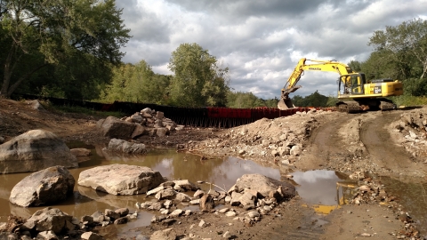
[[[101,136],[95,127],[98,120],[92,116],[34,109],[23,101],[0,100],[0,137],[4,140],[32,129],[44,129],[65,141],[107,143],[109,139]],[[186,127],[165,138],[143,136],[138,141],[150,148],[180,145],[180,148],[200,156],[238,156],[277,167],[283,176],[296,170],[327,169],[342,172],[359,180],[360,184],[375,182],[377,176],[425,181],[426,121],[426,107],[355,115],[320,111],[262,119],[232,129]],[[226,231],[237,239],[350,239],[363,236],[422,239],[427,236],[425,232],[417,233],[412,220],[401,217],[404,209],[399,206],[399,199],[392,196],[371,198],[367,197],[367,201],[359,204],[353,201],[326,217],[317,218],[314,211],[303,207],[302,200],[296,197],[279,204],[274,213],[250,226],[223,214],[196,213],[181,217],[172,226],[156,223],[135,228],[124,238],[140,234],[150,236],[165,228],[173,228],[181,237],[191,233],[197,238],[212,239],[223,238]],[[236,210],[242,215],[245,212]],[[200,220],[205,220],[208,226],[199,228]],[[102,229],[99,231],[103,236],[111,236]]]

